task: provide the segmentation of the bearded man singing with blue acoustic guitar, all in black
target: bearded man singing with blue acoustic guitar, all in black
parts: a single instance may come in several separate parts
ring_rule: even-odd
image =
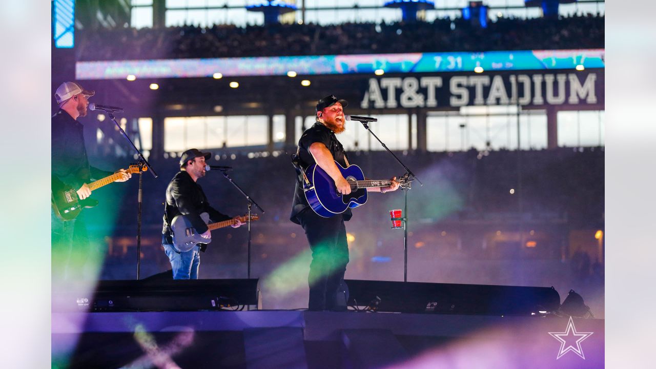
[[[350,165],[342,144],[336,134],[344,131],[344,108],[346,100],[340,100],[335,95],[321,98],[316,105],[316,122],[308,128],[298,141],[299,164],[306,169],[316,163],[335,181],[335,186],[341,194],[350,194],[351,187],[342,176],[335,162],[342,167]],[[388,187],[368,188],[371,192],[394,191],[399,184],[392,178]],[[348,264],[348,243],[346,242],[346,227],[344,221],[352,217],[351,209],[330,218],[324,218],[315,213],[305,198],[302,177],[297,176],[293,207],[290,220],[299,224],[312,250],[312,263],[308,284],[310,286],[310,301],[308,310],[337,311],[337,290],[344,279]]]

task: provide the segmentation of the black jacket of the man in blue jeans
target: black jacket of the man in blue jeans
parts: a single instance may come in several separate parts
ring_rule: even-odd
[[[196,232],[207,231],[207,225],[201,219],[201,213],[207,212],[213,222],[232,219],[209,205],[203,188],[194,182],[186,171],[179,171],[166,188],[166,205],[164,207],[164,225],[162,243],[173,244],[171,238],[171,221],[176,215],[186,215]]]

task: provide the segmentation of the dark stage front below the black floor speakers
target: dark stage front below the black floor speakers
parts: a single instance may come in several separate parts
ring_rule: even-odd
[[[52,355],[71,368],[601,368],[604,320],[356,311],[52,313]]]

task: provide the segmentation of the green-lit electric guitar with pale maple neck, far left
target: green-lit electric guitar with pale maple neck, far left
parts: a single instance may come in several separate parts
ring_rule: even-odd
[[[142,167],[141,170],[147,171],[148,167]],[[126,171],[132,174],[139,173],[139,166],[130,165]],[[109,185],[121,177],[123,177],[123,174],[120,172],[114,173],[113,175],[108,175],[103,179],[98,179],[98,181],[89,183],[87,186],[89,186],[89,189],[93,191],[102,186]],[[98,200],[93,200],[92,198],[85,198],[84,200],[80,200],[77,196],[77,190],[75,188],[64,185],[64,183],[55,183],[53,181],[51,203],[52,209],[58,217],[64,219],[64,221],[70,221],[79,215],[83,207],[89,208],[98,205]]]

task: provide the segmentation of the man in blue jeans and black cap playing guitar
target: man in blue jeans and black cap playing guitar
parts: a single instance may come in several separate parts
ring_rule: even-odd
[[[211,238],[210,230],[201,218],[201,213],[208,213],[213,222],[227,221],[228,215],[220,213],[209,205],[203,188],[196,181],[205,177],[207,165],[205,160],[211,158],[209,152],[200,152],[191,148],[182,153],[180,157],[180,171],[171,179],[166,188],[166,205],[164,207],[164,227],[162,229],[162,247],[171,261],[173,279],[198,279],[198,266],[200,265],[199,251],[205,251],[201,246],[194,246],[189,251],[178,251],[173,246],[171,235],[171,221],[176,215],[184,215],[192,226],[204,238]],[[234,217],[237,228],[243,223],[239,217]]]

